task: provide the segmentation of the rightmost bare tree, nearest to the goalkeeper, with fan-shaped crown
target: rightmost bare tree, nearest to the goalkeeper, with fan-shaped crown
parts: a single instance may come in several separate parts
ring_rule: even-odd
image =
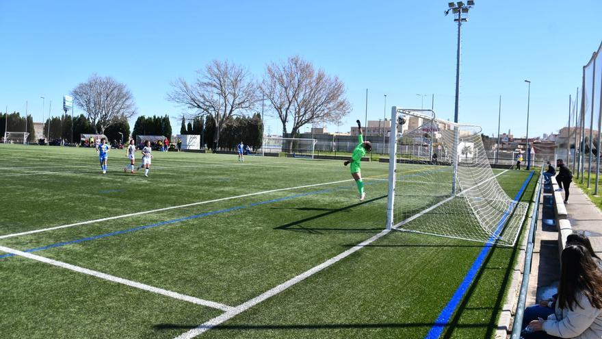
[[[316,71],[311,62],[298,55],[267,65],[261,90],[283,124],[283,135],[287,134],[287,124],[292,123],[291,138],[303,125],[336,124],[351,111],[339,77],[326,75],[322,69]]]

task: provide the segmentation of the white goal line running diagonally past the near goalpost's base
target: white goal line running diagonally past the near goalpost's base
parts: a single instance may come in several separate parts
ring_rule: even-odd
[[[467,190],[464,190],[464,192],[467,192],[468,190],[471,190],[477,186],[480,186],[481,184],[484,184],[485,182],[487,182],[491,179],[495,179],[495,177],[497,177],[498,175],[501,175],[507,171],[508,170],[503,171],[503,172],[495,175],[494,177],[487,179],[486,181],[482,181],[479,184],[472,186],[471,188],[468,188]],[[395,227],[393,227],[393,229],[399,227],[400,225],[404,225],[405,223],[408,223],[425,213],[428,213],[430,210],[433,210],[437,206],[442,205],[443,203],[445,203],[451,199],[453,199],[453,197],[449,197],[449,198],[445,199],[444,201],[440,201],[439,203],[432,205],[430,208],[427,208],[426,210],[423,210],[423,211],[419,212],[418,214],[415,214],[414,216],[411,216],[410,218],[406,219],[405,221],[402,221],[401,223],[395,225]],[[332,264],[335,264],[335,263],[343,260],[344,258],[347,258],[349,255],[352,255],[356,251],[363,249],[363,247],[366,247],[367,245],[371,244],[372,242],[389,234],[390,231],[391,231],[390,229],[384,229],[384,230],[380,231],[380,233],[372,236],[368,240],[364,240],[363,242],[356,244],[354,247],[348,249],[347,251],[344,251],[343,253],[340,253],[339,255],[326,260],[322,264],[314,266],[313,268],[310,268],[308,271],[305,271],[304,273],[301,273],[300,275],[297,275],[296,277],[293,277],[293,278],[285,281],[283,284],[280,284],[280,285],[272,288],[271,290],[267,290],[266,292],[259,294],[257,297],[254,297],[253,299],[250,299],[244,303],[241,303],[238,306],[233,307],[232,310],[226,311],[224,314],[221,314],[220,316],[216,316],[215,318],[212,318],[209,321],[202,323],[198,327],[195,327],[194,329],[191,329],[191,330],[181,334],[180,336],[177,336],[175,339],[191,339],[196,336],[200,336],[200,334],[203,334],[206,331],[209,331],[209,329],[212,329],[213,327],[216,327],[216,326],[230,320],[231,318],[237,316],[238,314],[245,312],[250,307],[253,307],[254,305],[257,305],[258,303],[261,303],[265,299],[274,297],[276,294],[283,292],[287,288],[299,283],[300,281],[303,281],[304,279],[306,279],[308,277],[311,277],[311,275],[314,275],[315,273],[318,273],[319,271],[324,270],[324,268],[327,268],[328,266],[332,266]]]

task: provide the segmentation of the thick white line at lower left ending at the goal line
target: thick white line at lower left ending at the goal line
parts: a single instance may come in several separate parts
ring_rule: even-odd
[[[197,305],[203,305],[203,306],[207,306],[207,307],[216,308],[218,310],[222,310],[222,311],[225,311],[225,312],[230,312],[234,308],[234,307],[231,307],[231,306],[228,306],[228,305],[224,305],[222,303],[216,303],[215,301],[198,299],[196,297],[190,297],[189,295],[180,294],[178,292],[173,292],[173,291],[170,291],[170,290],[163,290],[163,288],[149,286],[149,285],[146,285],[146,284],[139,283],[137,281],[131,281],[131,280],[128,280],[128,279],[123,279],[123,278],[120,278],[120,277],[115,277],[114,275],[108,275],[106,273],[101,273],[101,272],[98,272],[98,271],[92,271],[92,270],[89,270],[88,268],[83,268],[83,267],[80,267],[80,266],[75,266],[75,265],[72,265],[72,264],[67,264],[66,262],[60,262],[60,261],[57,261],[57,260],[53,260],[53,259],[49,259],[49,258],[45,258],[45,257],[40,257],[40,255],[26,253],[26,252],[23,252],[23,251],[18,251],[16,249],[10,249],[8,247],[0,246],[0,251],[6,252],[6,253],[12,253],[14,255],[18,255],[18,256],[21,256],[21,257],[24,257],[24,258],[29,258],[31,260],[36,260],[38,262],[44,262],[46,264],[51,264],[53,266],[58,266],[58,267],[66,268],[66,269],[68,269],[70,271],[75,271],[75,272],[83,273],[83,274],[86,274],[86,275],[92,275],[92,277],[97,277],[97,278],[100,278],[100,279],[104,279],[104,280],[108,280],[108,281],[113,281],[113,282],[115,282],[117,284],[131,286],[133,288],[138,288],[140,290],[145,290],[145,291],[148,291],[148,292],[153,292],[153,293],[161,294],[161,295],[164,295],[166,297],[170,297],[170,298],[174,298],[174,299],[179,299],[179,300],[187,301],[189,303],[195,303]]]

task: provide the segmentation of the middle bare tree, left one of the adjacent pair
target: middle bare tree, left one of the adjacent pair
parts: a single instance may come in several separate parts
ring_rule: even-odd
[[[213,60],[204,71],[197,71],[193,84],[179,78],[172,86],[170,101],[194,110],[194,116],[209,114],[215,119],[215,147],[219,146],[226,122],[235,115],[252,111],[259,101],[257,84],[246,68],[227,61]]]

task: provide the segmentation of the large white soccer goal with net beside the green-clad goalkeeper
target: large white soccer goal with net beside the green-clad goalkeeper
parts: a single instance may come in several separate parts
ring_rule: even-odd
[[[489,165],[478,126],[393,107],[415,127],[392,124],[387,227],[490,244],[514,245],[527,203],[510,198]]]

